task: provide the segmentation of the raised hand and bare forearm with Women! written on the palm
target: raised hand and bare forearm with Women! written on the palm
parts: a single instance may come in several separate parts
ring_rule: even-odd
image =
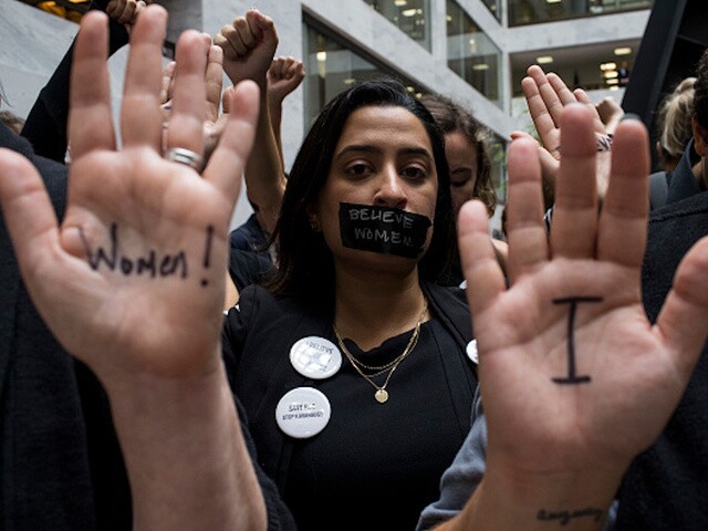
[[[60,225],[31,163],[6,149],[0,205],[34,305],[108,395],[135,528],[264,530],[263,497],[220,348],[228,227],[253,140],[258,87],[236,87],[226,131],[200,176],[192,164],[204,153],[207,54],[199,33],[183,33],[163,153],[166,21],[167,12],[150,6],[132,31],[117,149],[107,18],[83,18],[65,217]]]

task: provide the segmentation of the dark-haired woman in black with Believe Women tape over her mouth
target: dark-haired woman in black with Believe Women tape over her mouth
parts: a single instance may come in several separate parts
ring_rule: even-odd
[[[299,528],[413,528],[461,445],[472,332],[464,291],[436,283],[452,223],[442,137],[402,83],[323,108],[288,178],[274,277],[241,292],[222,336]],[[315,428],[293,420],[299,404]]]

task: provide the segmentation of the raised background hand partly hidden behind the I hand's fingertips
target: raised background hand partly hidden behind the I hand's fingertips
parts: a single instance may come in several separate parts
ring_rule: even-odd
[[[600,119],[597,110],[593,106],[587,93],[582,88],[571,91],[563,80],[554,73],[545,73],[538,65],[532,65],[528,70],[528,75],[521,80],[521,88],[527,98],[529,113],[533,119],[542,146],[539,147],[539,157],[543,179],[548,183],[548,190],[552,194],[556,186],[558,173],[561,159],[561,116],[566,105],[571,103],[582,103],[592,110],[593,131],[595,133],[596,149],[601,155],[596,158],[597,171],[595,175],[597,192],[602,198],[607,188],[610,176],[610,147],[611,140],[607,136],[605,125]],[[512,139],[528,136],[521,132],[511,134]],[[546,201],[548,202],[548,201]]]

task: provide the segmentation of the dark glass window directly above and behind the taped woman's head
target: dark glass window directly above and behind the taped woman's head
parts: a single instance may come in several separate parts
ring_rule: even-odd
[[[408,91],[419,95],[423,90],[416,83],[354,51],[335,34],[321,30],[312,21],[305,22],[305,79],[304,79],[304,126],[310,128],[324,105],[340,92],[354,83],[391,75],[408,86]]]

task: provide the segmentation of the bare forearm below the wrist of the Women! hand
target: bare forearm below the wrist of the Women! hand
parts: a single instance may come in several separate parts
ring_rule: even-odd
[[[107,386],[134,529],[266,529],[262,493],[223,366],[190,381]]]

